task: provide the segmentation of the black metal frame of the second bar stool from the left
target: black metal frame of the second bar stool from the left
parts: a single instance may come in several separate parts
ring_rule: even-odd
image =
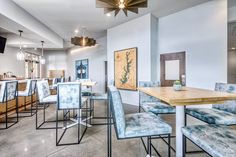
[[[35,87],[32,89],[32,81],[35,81]],[[24,118],[24,117],[32,117],[33,115],[36,114],[36,106],[33,104],[37,105],[37,101],[33,101],[34,94],[36,94],[36,84],[37,80],[32,80],[30,82],[30,89],[27,97],[30,97],[30,102],[26,103],[26,97],[24,97],[24,110],[19,111],[19,114],[25,114],[25,113],[30,113],[30,115],[19,115],[19,118]],[[18,97],[19,98],[19,97]],[[26,106],[30,104],[30,109],[27,109]]]

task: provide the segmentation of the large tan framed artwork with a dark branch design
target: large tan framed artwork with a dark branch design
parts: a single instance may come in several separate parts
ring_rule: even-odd
[[[115,51],[115,86],[137,90],[137,48]]]

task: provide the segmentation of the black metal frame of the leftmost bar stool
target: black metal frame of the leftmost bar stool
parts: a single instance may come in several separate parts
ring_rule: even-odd
[[[4,94],[3,94],[3,104],[5,103],[5,105],[6,105],[5,122],[0,122],[0,123],[4,123],[5,127],[4,128],[0,128],[0,130],[8,129],[8,128],[12,127],[13,125],[15,125],[16,123],[18,123],[18,121],[19,121],[19,115],[18,115],[18,97],[17,97],[18,82],[16,84],[16,91],[15,91],[14,99],[12,99],[12,100],[15,100],[15,102],[16,102],[16,107],[15,107],[16,117],[8,117],[8,102],[12,101],[12,100],[7,100],[7,97],[8,97],[7,84],[8,84],[8,82],[6,83],[6,87],[4,89]],[[6,98],[6,101],[4,101],[5,98]],[[12,121],[12,122],[8,121],[8,119],[15,119],[15,118],[16,118],[16,121]],[[8,123],[11,123],[11,125],[8,125]]]

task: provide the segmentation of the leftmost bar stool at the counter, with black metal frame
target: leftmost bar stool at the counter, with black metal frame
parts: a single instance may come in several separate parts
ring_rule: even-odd
[[[17,81],[5,81],[2,83],[1,90],[0,90],[0,103],[6,105],[6,112],[5,112],[5,127],[0,128],[0,130],[8,129],[11,126],[15,125],[18,122],[18,98],[17,98],[17,89],[18,89],[18,82]],[[15,100],[16,102],[16,117],[9,117],[8,115],[8,105],[9,101]],[[9,121],[9,119],[16,119],[15,121]],[[10,125],[8,125],[10,123]]]

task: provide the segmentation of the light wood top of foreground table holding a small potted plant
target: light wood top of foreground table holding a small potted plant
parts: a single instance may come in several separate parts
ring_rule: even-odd
[[[138,90],[172,106],[217,104],[236,100],[236,94],[191,87],[184,87],[181,91],[175,91],[173,87],[140,87]]]

